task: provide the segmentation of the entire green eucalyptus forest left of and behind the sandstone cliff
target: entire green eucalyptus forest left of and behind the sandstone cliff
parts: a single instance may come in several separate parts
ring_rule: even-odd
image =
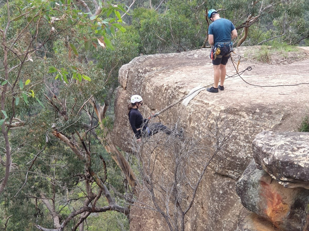
[[[309,46],[307,0],[0,7],[1,230],[129,230],[138,172],[110,136],[118,70],[140,55],[209,47],[208,10],[234,23],[234,46]]]

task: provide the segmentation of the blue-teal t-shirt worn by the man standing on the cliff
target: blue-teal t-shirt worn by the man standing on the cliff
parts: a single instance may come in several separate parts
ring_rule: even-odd
[[[208,27],[208,34],[214,35],[215,43],[231,42],[231,32],[235,29],[228,19],[217,19]]]

